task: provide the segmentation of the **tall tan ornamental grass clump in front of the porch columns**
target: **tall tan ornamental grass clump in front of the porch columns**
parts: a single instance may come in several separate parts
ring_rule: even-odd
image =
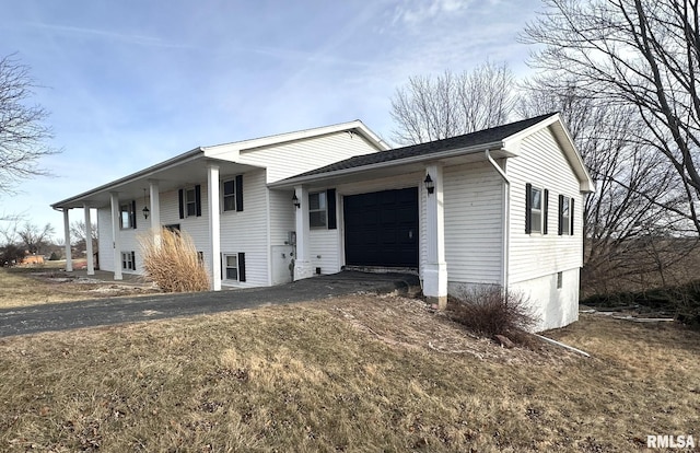
[[[161,290],[209,290],[209,275],[187,233],[162,229],[160,237],[155,234],[142,235],[139,243],[143,252],[145,278],[155,282]]]

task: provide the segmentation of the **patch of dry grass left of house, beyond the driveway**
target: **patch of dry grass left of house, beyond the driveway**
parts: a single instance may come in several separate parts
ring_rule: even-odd
[[[81,280],[61,270],[65,262],[48,263],[50,265],[0,268],[0,310],[154,291],[128,282]]]

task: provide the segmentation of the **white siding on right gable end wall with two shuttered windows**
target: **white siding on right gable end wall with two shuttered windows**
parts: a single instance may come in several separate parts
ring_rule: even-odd
[[[583,198],[580,183],[549,129],[522,142],[522,154],[509,159],[511,228],[509,282],[533,280],[583,265]],[[549,190],[548,234],[525,233],[525,185]],[[558,235],[559,195],[574,199],[574,234]]]

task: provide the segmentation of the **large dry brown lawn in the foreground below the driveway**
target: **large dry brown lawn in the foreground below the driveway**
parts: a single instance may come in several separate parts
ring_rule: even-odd
[[[700,426],[700,334],[504,349],[372,295],[0,339],[1,451],[630,451]]]

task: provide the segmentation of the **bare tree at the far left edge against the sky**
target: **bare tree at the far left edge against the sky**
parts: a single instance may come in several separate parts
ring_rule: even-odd
[[[46,175],[38,161],[58,152],[46,143],[52,137],[44,124],[48,113],[27,103],[35,88],[26,66],[13,56],[0,59],[0,193],[11,194],[22,178]]]

